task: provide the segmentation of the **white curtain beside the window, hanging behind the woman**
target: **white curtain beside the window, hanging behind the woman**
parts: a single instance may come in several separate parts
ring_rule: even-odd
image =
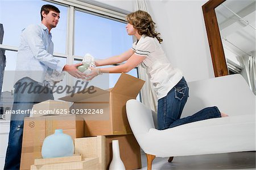
[[[148,12],[146,0],[136,0],[135,10],[142,10],[142,11]],[[144,69],[143,67],[141,67],[141,65],[139,65],[138,73],[139,73],[139,78],[146,81],[141,90],[142,103],[146,105],[148,108],[150,108],[151,110],[157,111],[158,100],[154,90],[152,90],[152,84],[146,74],[146,69]]]

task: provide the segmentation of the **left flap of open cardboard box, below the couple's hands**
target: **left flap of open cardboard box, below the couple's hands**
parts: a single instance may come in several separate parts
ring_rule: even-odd
[[[96,96],[99,96],[101,94],[109,93],[107,90],[102,90],[100,88],[94,87],[93,92],[94,91],[95,92],[89,94],[87,92],[87,89],[84,90],[84,92],[86,92],[86,93],[82,93],[82,91],[80,91],[81,93],[77,92],[75,94],[71,94],[69,96],[61,97],[59,99],[61,99],[63,101],[69,101],[69,102],[79,102],[79,101],[83,101],[84,99],[87,99],[87,98],[96,97]]]

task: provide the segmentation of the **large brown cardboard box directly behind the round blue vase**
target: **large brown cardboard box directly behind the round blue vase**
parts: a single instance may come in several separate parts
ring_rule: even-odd
[[[44,138],[54,133],[56,128],[75,138],[84,136],[84,119],[77,115],[50,115],[25,118],[22,140],[20,169],[30,169],[34,159],[42,157]]]

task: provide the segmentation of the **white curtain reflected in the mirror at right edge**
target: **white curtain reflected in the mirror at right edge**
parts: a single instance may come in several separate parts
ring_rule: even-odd
[[[245,64],[246,74],[251,90],[256,95],[256,59],[255,53],[253,56],[243,57],[243,63]]]

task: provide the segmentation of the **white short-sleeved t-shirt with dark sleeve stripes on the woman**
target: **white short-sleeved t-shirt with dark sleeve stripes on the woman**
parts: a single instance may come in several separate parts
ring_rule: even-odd
[[[142,35],[132,49],[137,55],[146,56],[141,65],[146,68],[158,99],[167,96],[183,75],[179,69],[172,68],[158,40]]]

